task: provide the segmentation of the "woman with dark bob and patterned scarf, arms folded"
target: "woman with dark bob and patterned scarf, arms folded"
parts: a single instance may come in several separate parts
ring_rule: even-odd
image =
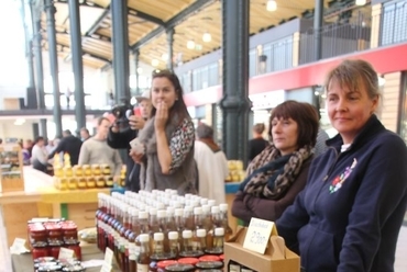
[[[268,122],[271,144],[252,160],[240,184],[232,215],[249,224],[252,217],[276,220],[307,182],[318,117],[311,104],[286,101]]]

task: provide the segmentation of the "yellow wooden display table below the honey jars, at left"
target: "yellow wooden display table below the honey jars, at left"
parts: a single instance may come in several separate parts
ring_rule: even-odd
[[[74,220],[78,229],[95,226],[99,192],[110,189],[59,191],[53,178],[31,167],[24,167],[24,191],[0,193],[0,212],[10,247],[15,237],[26,239],[26,223],[31,218],[48,217]]]

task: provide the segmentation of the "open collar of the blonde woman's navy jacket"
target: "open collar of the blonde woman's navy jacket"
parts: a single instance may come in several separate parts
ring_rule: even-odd
[[[366,124],[363,126],[362,131],[354,138],[349,149],[353,149],[360,145],[363,145],[363,143],[366,143],[370,138],[374,137],[378,132],[386,128],[378,121],[377,116],[372,114]],[[340,150],[342,145],[343,140],[340,134],[327,140],[327,146],[333,147],[337,150]]]

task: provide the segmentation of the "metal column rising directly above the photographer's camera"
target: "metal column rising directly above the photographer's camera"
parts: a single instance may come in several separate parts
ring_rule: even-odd
[[[130,100],[128,1],[111,1],[111,16],[116,98]]]

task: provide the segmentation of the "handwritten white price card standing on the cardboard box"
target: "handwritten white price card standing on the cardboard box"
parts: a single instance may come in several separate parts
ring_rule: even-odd
[[[274,222],[252,217],[243,248],[264,254],[273,229],[276,231]]]

